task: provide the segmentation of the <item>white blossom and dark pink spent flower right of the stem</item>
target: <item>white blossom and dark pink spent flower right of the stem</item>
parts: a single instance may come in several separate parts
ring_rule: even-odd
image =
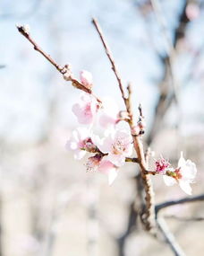
[[[161,157],[156,161],[155,171],[163,174],[164,181],[167,186],[172,186],[176,183],[179,184],[180,188],[188,195],[191,195],[191,183],[194,182],[197,169],[195,163],[191,160],[185,160],[183,158],[183,152],[178,161],[178,166],[174,169],[165,158]]]

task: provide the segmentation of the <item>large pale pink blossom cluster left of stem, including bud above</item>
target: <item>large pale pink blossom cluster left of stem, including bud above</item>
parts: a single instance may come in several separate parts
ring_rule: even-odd
[[[92,75],[81,72],[81,84],[92,85]],[[132,136],[130,129],[119,126],[123,120],[113,100],[105,99],[103,106],[89,93],[82,93],[80,101],[72,106],[72,112],[78,122],[86,127],[76,128],[66,143],[75,159],[81,159],[87,152],[94,154],[86,163],[87,171],[98,171],[108,176],[112,184],[117,176],[118,167],[132,154]],[[102,138],[93,133],[93,125],[103,128]]]

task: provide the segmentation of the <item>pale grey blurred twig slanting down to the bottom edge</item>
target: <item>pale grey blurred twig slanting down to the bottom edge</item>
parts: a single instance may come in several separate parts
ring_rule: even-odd
[[[174,235],[169,231],[168,226],[166,225],[166,221],[159,217],[157,219],[157,226],[161,232],[161,234],[164,235],[166,239],[166,243],[170,246],[171,250],[174,252],[175,256],[185,256],[185,253],[183,252],[180,245],[175,241]]]

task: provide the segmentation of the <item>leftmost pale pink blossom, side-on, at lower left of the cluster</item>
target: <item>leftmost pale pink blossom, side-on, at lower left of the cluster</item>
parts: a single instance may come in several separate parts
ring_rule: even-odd
[[[89,137],[89,129],[77,128],[72,131],[72,136],[66,143],[66,148],[73,151],[74,158],[80,160],[85,154],[86,150],[93,146]]]

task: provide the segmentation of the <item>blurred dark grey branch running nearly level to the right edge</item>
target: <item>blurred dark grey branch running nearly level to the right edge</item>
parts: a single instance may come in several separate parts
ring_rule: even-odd
[[[171,206],[174,206],[174,205],[185,204],[185,203],[190,203],[190,202],[198,202],[198,201],[202,201],[202,200],[204,200],[204,194],[199,195],[199,196],[195,196],[195,197],[191,197],[191,198],[184,198],[184,199],[167,201],[167,202],[158,204],[155,207],[156,215],[161,209],[163,209],[165,207],[171,207]]]

